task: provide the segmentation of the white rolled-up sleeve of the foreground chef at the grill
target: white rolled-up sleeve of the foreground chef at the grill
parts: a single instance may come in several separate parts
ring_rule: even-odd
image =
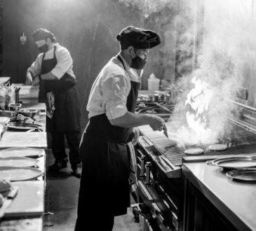
[[[128,110],[126,101],[130,91],[130,82],[126,76],[113,75],[102,82],[103,106],[109,120],[123,116]]]

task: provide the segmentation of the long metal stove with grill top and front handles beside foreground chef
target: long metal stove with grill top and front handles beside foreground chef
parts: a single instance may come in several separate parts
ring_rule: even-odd
[[[145,106],[156,106],[156,115],[163,113],[161,107],[170,106],[166,102],[160,104],[145,104]],[[147,109],[142,109],[143,105],[138,104],[137,113],[149,113]],[[159,109],[157,111],[155,109]],[[174,110],[171,105],[170,113]],[[149,109],[151,110],[151,109]],[[170,115],[169,115],[170,118]],[[167,119],[166,121],[168,121]],[[210,151],[206,145],[198,146],[177,146],[177,141],[166,138],[163,132],[153,132],[149,125],[140,127],[140,139],[135,146],[137,157],[137,177],[138,181],[137,202],[143,208],[147,207],[146,219],[150,221],[148,225],[151,230],[182,230],[182,162],[203,162],[214,160],[224,156],[232,155],[255,155],[256,134],[251,130],[240,126],[240,123],[232,123],[233,129],[219,141],[220,144],[227,144],[225,151]],[[172,123],[173,124],[173,123]],[[172,130],[170,123],[166,123],[168,131]],[[203,148],[203,155],[188,156],[184,150],[188,148]],[[140,208],[137,208],[140,210]]]

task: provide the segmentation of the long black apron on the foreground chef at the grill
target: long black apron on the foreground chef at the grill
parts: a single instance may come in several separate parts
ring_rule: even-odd
[[[117,58],[123,64],[121,57]],[[134,113],[140,83],[130,81],[130,84],[126,106],[128,111]],[[98,209],[98,212],[106,211],[113,216],[126,214],[127,207],[130,207],[130,158],[127,143],[131,139],[132,130],[111,125],[106,114],[90,118],[79,150],[83,171],[78,221],[85,218],[83,214],[89,208],[94,213]],[[95,216],[100,219],[101,214]]]

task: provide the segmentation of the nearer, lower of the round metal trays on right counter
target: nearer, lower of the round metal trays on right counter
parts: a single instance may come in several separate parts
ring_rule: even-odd
[[[234,169],[226,173],[230,179],[238,181],[256,181],[256,168]]]

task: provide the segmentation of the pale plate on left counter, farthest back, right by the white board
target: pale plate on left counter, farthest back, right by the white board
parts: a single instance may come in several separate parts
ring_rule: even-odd
[[[5,148],[0,150],[0,158],[27,157],[39,158],[43,155],[41,148]]]

